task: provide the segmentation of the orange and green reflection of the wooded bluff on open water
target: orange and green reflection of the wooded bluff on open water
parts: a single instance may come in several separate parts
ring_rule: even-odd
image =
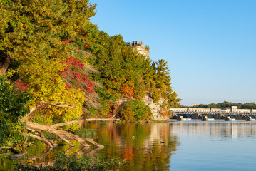
[[[177,150],[177,136],[170,136],[169,123],[89,123],[98,128],[98,142],[106,147],[98,154],[128,160],[122,170],[169,170]]]

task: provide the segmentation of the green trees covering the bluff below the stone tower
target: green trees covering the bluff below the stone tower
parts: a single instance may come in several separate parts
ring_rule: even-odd
[[[168,106],[178,105],[180,99],[170,86],[170,74],[166,61],[152,63],[133,48],[126,46],[120,35],[108,36],[91,24],[78,29],[78,37],[71,40],[83,51],[88,51],[93,58],[89,63],[99,72],[91,75],[94,81],[101,83],[98,88],[102,110],[94,112],[111,112],[109,106],[117,98],[135,98],[143,100],[149,91],[158,102],[160,98],[168,101]],[[113,97],[113,98],[109,98]],[[108,107],[107,107],[108,106]],[[166,103],[167,106],[167,103]]]

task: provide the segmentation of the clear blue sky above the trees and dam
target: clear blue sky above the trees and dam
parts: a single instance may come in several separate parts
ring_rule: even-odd
[[[182,105],[256,102],[256,0],[93,0],[91,21],[168,61]]]

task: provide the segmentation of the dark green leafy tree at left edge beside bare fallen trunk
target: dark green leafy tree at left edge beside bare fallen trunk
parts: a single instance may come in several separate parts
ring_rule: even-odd
[[[25,138],[25,127],[21,118],[29,113],[29,109],[26,108],[29,98],[29,93],[17,90],[10,81],[0,76],[0,147],[21,147]]]

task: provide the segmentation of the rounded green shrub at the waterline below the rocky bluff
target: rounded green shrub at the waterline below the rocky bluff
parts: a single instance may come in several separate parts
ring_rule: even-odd
[[[148,105],[141,100],[128,100],[120,110],[123,120],[149,120],[152,115]]]

